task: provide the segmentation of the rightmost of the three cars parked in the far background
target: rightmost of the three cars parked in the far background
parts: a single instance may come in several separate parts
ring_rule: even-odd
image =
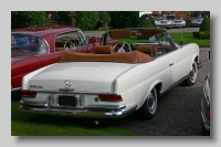
[[[186,18],[187,27],[199,27],[204,19],[202,12],[189,13]]]

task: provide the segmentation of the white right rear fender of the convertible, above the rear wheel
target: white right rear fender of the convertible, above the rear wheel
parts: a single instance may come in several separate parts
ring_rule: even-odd
[[[138,109],[147,94],[159,83],[161,83],[160,91],[169,87],[170,70],[166,56],[136,65],[115,81],[113,90],[114,93],[122,95],[122,104],[127,106],[136,104]]]

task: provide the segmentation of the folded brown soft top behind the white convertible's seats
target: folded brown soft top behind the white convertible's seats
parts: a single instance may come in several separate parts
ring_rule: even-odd
[[[154,61],[149,54],[139,51],[112,54],[77,53],[64,51],[59,62],[118,62],[118,63],[146,63]]]

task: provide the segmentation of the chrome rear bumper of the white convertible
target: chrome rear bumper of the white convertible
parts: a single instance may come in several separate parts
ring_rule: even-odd
[[[76,117],[96,117],[96,118],[122,118],[136,109],[136,105],[126,107],[126,105],[86,105],[83,107],[50,106],[48,103],[31,103],[20,101],[20,109],[55,115],[69,115]]]

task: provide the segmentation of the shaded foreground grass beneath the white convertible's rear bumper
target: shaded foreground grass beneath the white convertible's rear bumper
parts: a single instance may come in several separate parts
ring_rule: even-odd
[[[94,125],[93,120],[21,112],[19,102],[11,101],[11,136],[141,136],[112,127],[115,120],[99,125]]]

